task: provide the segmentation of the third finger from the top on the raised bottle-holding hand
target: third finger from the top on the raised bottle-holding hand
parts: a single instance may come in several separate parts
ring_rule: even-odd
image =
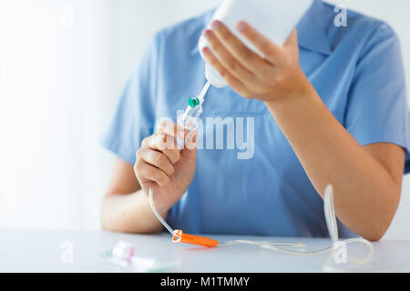
[[[240,80],[251,81],[255,78],[250,71],[248,71],[240,62],[231,54],[230,51],[223,45],[219,38],[213,34],[211,30],[206,30],[204,33],[208,40],[212,51],[220,60],[220,64],[224,65],[230,70],[232,75],[235,75]]]

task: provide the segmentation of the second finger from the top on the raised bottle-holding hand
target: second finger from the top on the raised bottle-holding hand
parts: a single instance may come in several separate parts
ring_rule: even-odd
[[[220,21],[211,24],[212,31],[218,36],[221,43],[225,45],[231,54],[235,56],[251,72],[259,72],[261,66],[266,62],[260,55],[253,52],[248,46],[244,45],[238,37],[233,35],[227,26]]]

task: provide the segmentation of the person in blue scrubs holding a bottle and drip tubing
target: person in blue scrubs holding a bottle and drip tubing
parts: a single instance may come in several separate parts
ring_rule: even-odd
[[[194,234],[329,236],[325,186],[334,188],[340,236],[379,240],[397,209],[410,169],[409,112],[400,43],[382,21],[348,12],[333,24],[333,6],[315,0],[283,46],[251,24],[238,29],[253,53],[213,11],[154,35],[121,96],[103,145],[118,156],[102,205],[104,229],[155,233],[162,229],[148,191],[170,226]],[[211,86],[210,117],[243,117],[251,155],[215,143],[215,128],[189,135],[177,120],[205,84],[201,53],[230,86]],[[238,118],[237,118],[238,117]],[[251,134],[250,134],[251,133]],[[180,153],[175,137],[196,147]],[[246,137],[248,140],[246,140]],[[210,139],[209,144],[207,141]]]

